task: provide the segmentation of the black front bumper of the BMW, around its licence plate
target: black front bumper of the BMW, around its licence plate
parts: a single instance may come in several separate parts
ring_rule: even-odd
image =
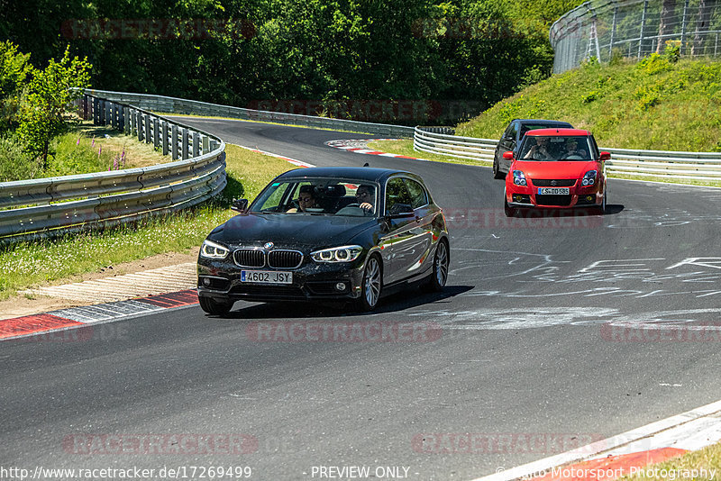
[[[319,263],[304,259],[298,268],[241,268],[232,259],[198,259],[197,294],[228,301],[314,301],[350,300],[360,296],[367,254],[352,262]],[[292,272],[292,284],[242,282],[241,271]],[[342,284],[339,290],[336,285]]]

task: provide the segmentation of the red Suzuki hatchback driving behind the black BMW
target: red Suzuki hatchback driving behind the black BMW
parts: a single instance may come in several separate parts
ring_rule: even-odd
[[[579,129],[527,132],[506,176],[506,215],[519,209],[585,207],[606,211],[606,161],[593,135]]]

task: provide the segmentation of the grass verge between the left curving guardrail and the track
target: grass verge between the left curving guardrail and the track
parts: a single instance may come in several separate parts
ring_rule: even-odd
[[[97,272],[166,252],[189,252],[216,225],[234,215],[230,201],[252,199],[270,179],[295,168],[285,160],[226,145],[228,186],[211,202],[163,218],[50,241],[21,242],[0,250],[0,300],[16,291]]]

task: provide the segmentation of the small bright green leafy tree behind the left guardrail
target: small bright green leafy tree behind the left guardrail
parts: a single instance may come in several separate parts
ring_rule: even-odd
[[[59,62],[50,59],[44,70],[34,69],[20,113],[18,134],[25,150],[48,165],[48,150],[53,137],[65,129],[64,115],[72,100],[81,94],[73,88],[90,84],[87,59],[70,59],[69,49]]]

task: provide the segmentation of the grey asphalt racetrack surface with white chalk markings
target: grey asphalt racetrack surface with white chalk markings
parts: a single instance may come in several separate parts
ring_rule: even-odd
[[[238,303],[217,319],[195,305],[84,341],[3,342],[0,465],[472,479],[721,397],[721,189],[610,179],[604,216],[508,220],[489,168],[324,145],[368,135],[184,122],[317,166],[421,175],[450,225],[448,286],[368,315]],[[429,330],[253,335],[278,322]]]

